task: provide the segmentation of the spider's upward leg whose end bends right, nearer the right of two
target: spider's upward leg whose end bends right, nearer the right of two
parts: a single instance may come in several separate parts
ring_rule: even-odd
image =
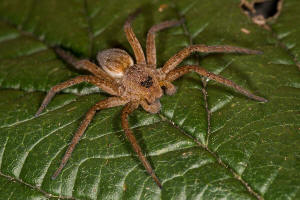
[[[149,65],[154,66],[156,68],[156,47],[155,47],[155,33],[170,28],[173,26],[177,26],[183,23],[183,19],[181,20],[172,20],[172,21],[165,21],[159,24],[152,26],[147,34],[147,43],[146,43],[146,54],[147,54],[147,63]]]

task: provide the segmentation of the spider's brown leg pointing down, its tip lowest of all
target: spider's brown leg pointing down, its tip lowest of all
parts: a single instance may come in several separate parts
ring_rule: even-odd
[[[129,140],[129,142],[131,143],[131,145],[133,147],[133,150],[138,154],[138,157],[139,157],[140,161],[143,163],[145,169],[150,174],[150,176],[153,178],[153,180],[158,185],[158,187],[162,188],[162,185],[161,185],[159,179],[155,175],[155,172],[153,171],[147,158],[144,156],[144,154],[141,150],[141,147],[139,146],[136,138],[133,135],[133,132],[131,131],[131,129],[129,128],[129,125],[128,125],[128,115],[131,112],[133,112],[138,106],[139,106],[138,103],[129,103],[123,108],[123,110],[122,110],[122,127],[125,131],[127,139]]]

